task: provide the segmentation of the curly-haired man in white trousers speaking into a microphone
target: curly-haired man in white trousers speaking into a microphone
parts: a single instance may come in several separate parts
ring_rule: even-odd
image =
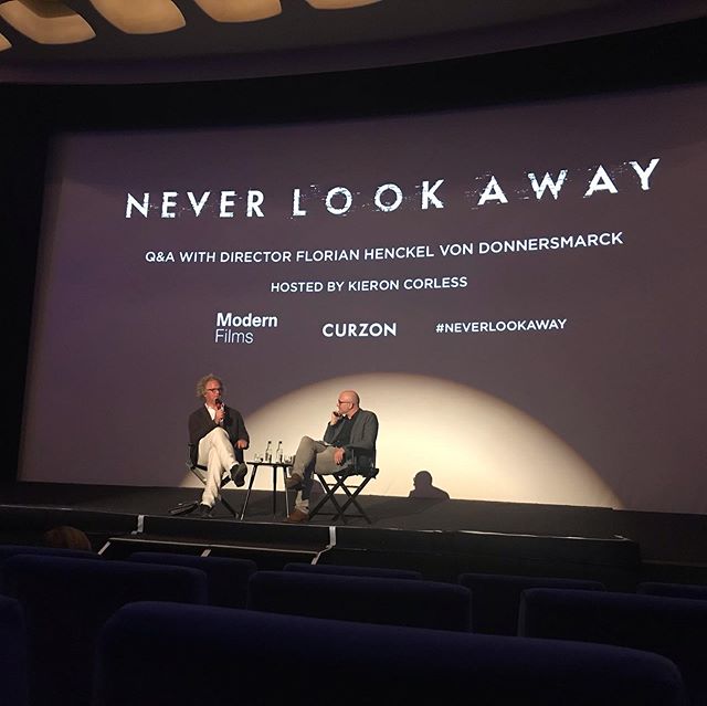
[[[223,392],[220,378],[203,376],[197,382],[197,397],[204,403],[189,417],[191,462],[207,468],[207,484],[197,508],[199,517],[211,517],[229,475],[241,487],[247,473],[243,449],[247,449],[250,438],[241,412],[223,403]]]

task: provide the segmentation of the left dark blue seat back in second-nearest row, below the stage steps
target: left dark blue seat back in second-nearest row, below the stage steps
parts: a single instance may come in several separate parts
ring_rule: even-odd
[[[95,637],[120,605],[208,601],[197,569],[41,555],[8,559],[4,588],[24,609],[32,706],[88,706]]]

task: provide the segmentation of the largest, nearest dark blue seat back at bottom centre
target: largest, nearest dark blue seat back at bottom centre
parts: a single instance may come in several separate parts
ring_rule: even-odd
[[[684,706],[684,696],[672,662],[635,650],[133,603],[101,634],[95,703]]]

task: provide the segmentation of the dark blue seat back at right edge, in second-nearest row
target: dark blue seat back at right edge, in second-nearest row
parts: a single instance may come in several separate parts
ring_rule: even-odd
[[[524,591],[519,634],[655,652],[679,668],[693,705],[707,704],[707,603],[609,591]]]

